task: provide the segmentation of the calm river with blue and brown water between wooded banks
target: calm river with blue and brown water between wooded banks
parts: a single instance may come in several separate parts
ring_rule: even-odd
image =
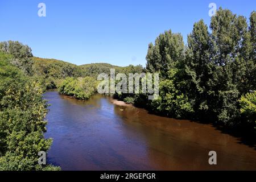
[[[111,98],[77,101],[55,91],[51,106],[48,162],[63,170],[256,169],[256,151],[210,125],[117,106]],[[210,166],[208,152],[217,152]]]

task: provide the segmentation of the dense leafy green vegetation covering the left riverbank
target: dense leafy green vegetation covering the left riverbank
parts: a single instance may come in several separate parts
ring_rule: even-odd
[[[59,169],[38,164],[38,152],[47,151],[52,140],[43,135],[47,104],[38,82],[27,76],[31,69],[25,65],[29,56],[22,55],[23,48],[8,51],[11,55],[0,51],[0,170]]]

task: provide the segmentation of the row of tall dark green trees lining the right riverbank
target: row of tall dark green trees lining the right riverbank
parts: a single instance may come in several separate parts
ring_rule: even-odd
[[[203,20],[194,24],[187,46],[181,34],[165,31],[149,44],[146,56],[146,71],[160,74],[158,99],[147,100],[147,94],[115,97],[168,117],[253,131],[255,26],[255,11],[247,23],[244,16],[220,8],[209,28]]]

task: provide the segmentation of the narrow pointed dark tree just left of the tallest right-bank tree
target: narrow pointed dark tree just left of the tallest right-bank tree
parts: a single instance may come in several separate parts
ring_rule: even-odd
[[[192,33],[188,35],[184,64],[179,65],[181,89],[185,90],[185,94],[193,101],[193,110],[201,118],[207,117],[209,107],[213,106],[211,100],[214,97],[214,65],[210,57],[211,41],[204,21],[195,23]]]

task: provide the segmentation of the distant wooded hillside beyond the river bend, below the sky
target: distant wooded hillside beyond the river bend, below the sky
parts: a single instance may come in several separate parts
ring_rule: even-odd
[[[144,71],[142,65],[129,65],[127,67],[117,67],[107,63],[92,63],[85,65],[75,65],[55,59],[42,59],[32,57],[32,70],[45,88],[57,88],[67,77],[92,77],[97,80],[100,73],[110,74],[110,69],[115,69],[116,73],[141,73]]]

